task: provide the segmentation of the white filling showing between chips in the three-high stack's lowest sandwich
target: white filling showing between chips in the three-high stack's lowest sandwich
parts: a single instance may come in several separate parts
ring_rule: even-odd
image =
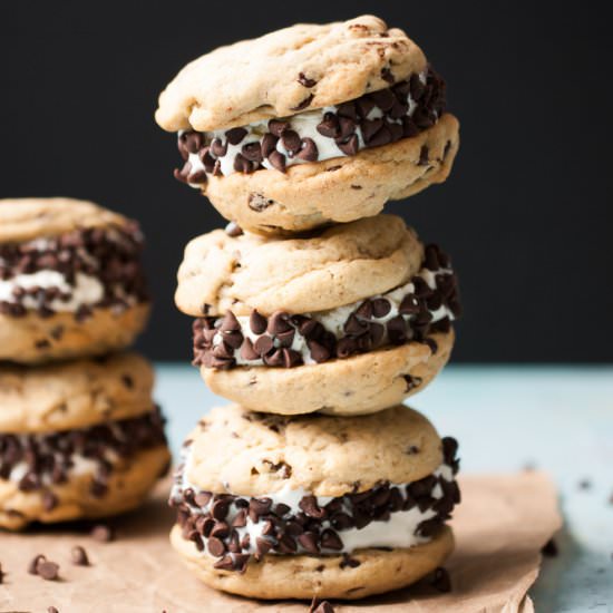
[[[183,492],[185,492],[187,488],[191,488],[195,494],[201,492],[201,488],[189,481],[187,478],[187,474],[189,473],[191,465],[192,465],[192,453],[189,447],[184,447],[182,450],[182,458],[183,458],[183,468],[181,470],[181,474],[176,477],[176,483],[173,486],[172,493],[171,493],[171,500],[183,500]],[[434,473],[432,475],[437,477],[438,479],[442,479],[445,481],[451,483],[454,481],[454,470],[451,466],[447,464],[441,464]],[[403,499],[406,498],[406,487],[409,484],[390,484],[391,487],[397,487],[402,495]],[[232,492],[226,492],[226,494],[233,494]],[[278,504],[284,504],[288,507],[290,507],[290,510],[288,512],[288,515],[296,515],[301,512],[299,507],[300,500],[304,496],[309,496],[310,493],[305,492],[304,489],[292,489],[290,485],[283,487],[279,492],[272,493],[272,494],[262,494],[261,496],[257,496],[257,498],[270,498],[272,500],[272,507],[274,508]],[[431,497],[435,499],[440,499],[444,496],[442,487],[440,486],[440,483],[437,483],[431,492]],[[328,503],[330,503],[333,499],[331,496],[317,496],[317,503],[320,507],[324,507]],[[196,505],[188,505],[189,512],[193,515],[205,515],[207,514],[213,505],[213,498],[208,502],[206,506],[196,506]],[[232,520],[239,513],[239,508],[232,504],[230,506],[228,515],[225,518],[225,522],[232,525]],[[343,507],[341,510],[351,513],[350,508]],[[399,548],[408,548],[412,547],[415,545],[420,545],[424,543],[428,543],[431,541],[430,537],[420,536],[416,534],[418,526],[421,524],[421,522],[425,522],[427,519],[431,519],[435,517],[437,513],[432,508],[427,508],[426,510],[420,510],[419,506],[413,506],[412,508],[408,510],[396,510],[393,513],[390,513],[389,519],[387,520],[371,520],[369,524],[367,524],[362,528],[348,528],[348,529],[338,529],[333,528],[330,524],[330,520],[322,519],[321,520],[321,529],[324,531],[327,528],[333,529],[340,539],[342,541],[343,547],[342,549],[325,549],[324,547],[321,548],[322,554],[350,554],[351,552],[354,552],[357,549],[363,549],[369,547],[399,547]],[[244,527],[236,527],[237,534],[239,534],[239,541],[242,542],[245,535],[249,535],[249,547],[243,548],[242,553],[245,554],[255,554],[256,548],[256,539],[257,537],[262,537],[264,529],[265,522],[259,520],[254,523],[252,518],[246,516],[246,525]],[[201,555],[207,556],[207,557],[214,557],[208,553],[207,542],[208,538],[202,537],[204,543],[204,549],[201,552]],[[298,544],[298,551],[296,554],[301,553],[308,553],[304,547]],[[270,552],[271,554],[275,554],[274,551]]]

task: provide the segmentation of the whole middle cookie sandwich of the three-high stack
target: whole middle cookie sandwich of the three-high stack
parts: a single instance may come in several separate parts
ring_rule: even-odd
[[[176,302],[213,391],[259,411],[366,413],[422,389],[460,314],[449,257],[399,217],[194,240]]]

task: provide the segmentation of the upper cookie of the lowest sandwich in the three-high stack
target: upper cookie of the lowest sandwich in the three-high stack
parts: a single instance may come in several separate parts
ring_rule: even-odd
[[[282,488],[315,496],[409,483],[436,470],[442,445],[420,413],[398,406],[361,417],[211,411],[192,432],[191,483],[214,493],[260,496]]]

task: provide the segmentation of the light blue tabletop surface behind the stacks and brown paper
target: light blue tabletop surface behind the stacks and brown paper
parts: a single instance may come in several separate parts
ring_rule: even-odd
[[[157,370],[176,451],[198,417],[225,401],[188,366]],[[536,610],[613,613],[613,367],[451,366],[411,406],[460,441],[465,473],[551,473],[565,528],[560,556],[545,560],[531,591]]]

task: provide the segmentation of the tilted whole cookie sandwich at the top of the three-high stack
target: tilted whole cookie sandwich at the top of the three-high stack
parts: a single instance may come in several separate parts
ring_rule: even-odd
[[[177,179],[241,227],[283,233],[373,215],[445,181],[459,143],[445,108],[445,81],[419,47],[362,16],[198,58],[160,95],[156,119],[178,132]]]

